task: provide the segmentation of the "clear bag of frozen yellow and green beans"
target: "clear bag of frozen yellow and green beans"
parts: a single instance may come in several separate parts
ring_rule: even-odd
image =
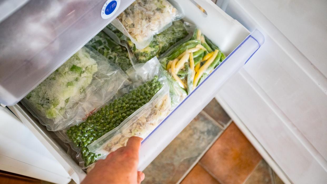
[[[170,86],[172,106],[182,102],[224,59],[220,52],[199,29],[184,23],[192,33],[160,56],[159,60]]]

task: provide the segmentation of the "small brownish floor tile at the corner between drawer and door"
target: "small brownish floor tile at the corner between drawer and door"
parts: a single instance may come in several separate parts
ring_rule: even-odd
[[[228,124],[231,118],[225,112],[225,110],[219,105],[217,100],[214,98],[211,102],[203,109],[205,113],[211,116],[216,122],[223,125],[224,127]]]

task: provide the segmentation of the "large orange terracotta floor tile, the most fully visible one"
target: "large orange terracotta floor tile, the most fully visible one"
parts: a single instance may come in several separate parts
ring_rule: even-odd
[[[200,160],[201,165],[222,184],[244,183],[261,156],[232,123]]]

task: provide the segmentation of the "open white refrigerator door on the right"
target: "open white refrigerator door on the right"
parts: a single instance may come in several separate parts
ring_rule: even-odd
[[[218,101],[285,183],[327,183],[327,2],[226,2],[266,41]]]

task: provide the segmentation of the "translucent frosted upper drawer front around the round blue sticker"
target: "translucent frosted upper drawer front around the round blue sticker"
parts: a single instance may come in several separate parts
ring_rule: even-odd
[[[0,22],[0,103],[16,104],[133,0],[110,19],[101,17],[105,2],[30,0]]]

